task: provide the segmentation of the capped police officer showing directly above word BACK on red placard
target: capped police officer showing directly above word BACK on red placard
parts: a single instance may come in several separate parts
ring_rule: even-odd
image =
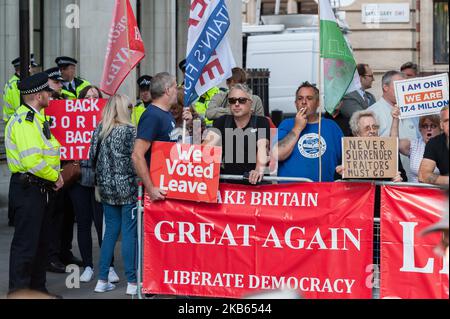
[[[67,56],[60,56],[56,58],[55,63],[58,65],[61,76],[64,79],[62,88],[63,97],[69,100],[77,99],[81,90],[91,85],[88,81],[76,76],[78,61]]]

